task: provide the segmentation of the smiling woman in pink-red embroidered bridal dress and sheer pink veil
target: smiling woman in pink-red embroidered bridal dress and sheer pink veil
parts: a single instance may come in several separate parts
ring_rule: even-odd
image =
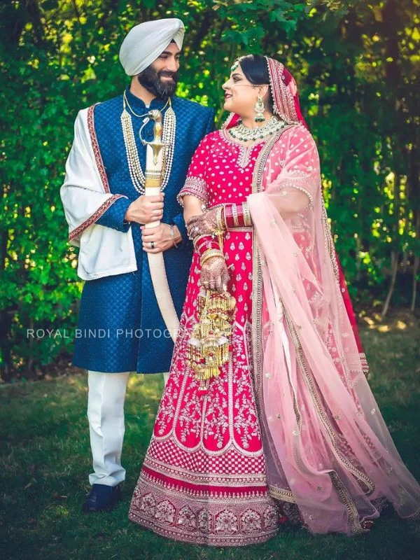
[[[295,80],[248,55],[223,90],[230,118],[202,140],[179,193],[195,253],[130,519],[237,546],[285,517],[346,535],[368,531],[387,501],[419,517],[420,487],[365,379]],[[217,313],[225,330],[204,356]]]

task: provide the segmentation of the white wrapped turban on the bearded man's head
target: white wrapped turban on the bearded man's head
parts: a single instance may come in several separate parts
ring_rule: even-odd
[[[181,50],[184,33],[183,22],[177,18],[144,22],[130,29],[120,48],[120,62],[127,76],[144,71],[172,40]]]

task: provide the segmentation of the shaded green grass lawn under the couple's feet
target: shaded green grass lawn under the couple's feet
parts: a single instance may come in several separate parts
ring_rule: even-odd
[[[419,321],[367,318],[363,341],[370,384],[395,443],[420,479]],[[85,515],[90,472],[83,374],[0,386],[1,537],[4,559],[418,559],[420,524],[384,512],[367,535],[312,536],[284,528],[264,545],[207,548],[166,540],[127,519],[162,393],[162,376],[133,376],[127,391],[123,501],[111,513]]]

